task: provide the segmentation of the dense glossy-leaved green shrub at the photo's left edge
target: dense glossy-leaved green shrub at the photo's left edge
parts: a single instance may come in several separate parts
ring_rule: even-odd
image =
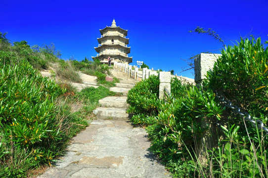
[[[55,123],[54,99],[64,90],[41,77],[25,60],[14,64],[11,59],[10,64],[4,65],[0,60],[0,152],[4,153],[0,155],[1,177],[16,174],[7,167],[19,173],[50,162],[58,155],[55,145],[61,139]]]

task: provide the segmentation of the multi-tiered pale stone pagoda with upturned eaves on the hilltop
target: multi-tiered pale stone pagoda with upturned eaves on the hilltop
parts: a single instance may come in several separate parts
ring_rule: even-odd
[[[115,25],[115,20],[112,22],[112,26],[106,26],[104,29],[99,30],[101,37],[97,38],[98,47],[94,47],[98,52],[97,56],[101,63],[108,63],[108,57],[110,56],[113,64],[114,61],[131,63],[132,57],[128,56],[130,53],[130,47],[128,47],[129,39],[126,38],[128,30],[124,30]]]

